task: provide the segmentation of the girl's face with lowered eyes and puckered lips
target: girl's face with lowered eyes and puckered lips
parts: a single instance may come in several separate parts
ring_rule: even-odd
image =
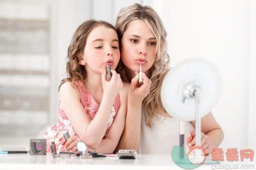
[[[107,65],[116,69],[120,60],[118,36],[105,26],[95,27],[87,37],[83,55],[86,72],[102,74]],[[83,62],[79,62],[84,65]]]

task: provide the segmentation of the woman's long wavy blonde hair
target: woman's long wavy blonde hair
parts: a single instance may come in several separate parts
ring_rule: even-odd
[[[146,126],[151,128],[152,121],[157,116],[157,107],[160,107],[160,109],[164,110],[164,112],[167,113],[162,105],[160,98],[160,84],[162,84],[164,74],[168,71],[168,65],[170,64],[170,57],[167,53],[167,33],[160,17],[155,10],[153,10],[149,6],[134,4],[132,6],[121,9],[117,17],[115,27],[120,40],[122,39],[124,32],[127,30],[129,23],[133,20],[145,21],[150,30],[152,31],[153,35],[155,35],[157,39],[155,62],[148,69],[147,75],[152,83],[149,90],[149,95],[142,102],[144,106],[145,124]],[[121,75],[123,81],[128,82],[125,72],[126,69],[124,68],[125,65],[120,60],[117,66],[117,72]],[[148,115],[147,119],[146,114]]]

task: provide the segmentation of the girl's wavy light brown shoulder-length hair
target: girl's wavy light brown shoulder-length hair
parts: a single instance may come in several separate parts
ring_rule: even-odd
[[[73,85],[75,81],[84,81],[86,79],[86,70],[83,65],[79,64],[78,55],[83,54],[87,37],[90,34],[90,32],[97,26],[105,26],[116,31],[115,27],[110,23],[95,20],[85,21],[76,29],[68,48],[66,66],[67,78],[64,78],[61,81],[59,91],[62,84],[66,81],[70,81]]]

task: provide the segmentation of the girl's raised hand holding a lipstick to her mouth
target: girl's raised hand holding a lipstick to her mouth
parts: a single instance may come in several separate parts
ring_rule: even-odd
[[[110,70],[110,72],[112,73],[111,80],[106,80],[107,70],[104,70],[103,74],[101,74],[101,81],[103,84],[104,94],[115,98],[119,91],[122,89],[123,82],[120,74],[118,74],[115,70]]]

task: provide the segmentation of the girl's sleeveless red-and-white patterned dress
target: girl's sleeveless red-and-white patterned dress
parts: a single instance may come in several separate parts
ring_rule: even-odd
[[[75,82],[75,84],[78,87],[80,92],[80,102],[83,108],[85,109],[87,115],[89,116],[90,120],[92,120],[98,111],[99,105],[93,99],[91,94],[86,92],[83,81],[81,80],[77,81]],[[109,125],[108,125],[108,128],[106,129],[103,139],[106,138],[111,128],[111,125],[117,115],[119,107],[120,107],[120,96],[118,94],[115,98],[114,105],[112,107],[112,111],[110,115]],[[71,126],[65,112],[61,110],[59,107],[58,123],[56,125],[51,126],[49,129],[47,129],[43,135],[43,138],[46,139],[46,152],[50,152],[49,144],[50,142],[53,142],[53,141],[56,144],[57,151],[68,151],[66,150],[65,146],[61,144],[62,139],[64,139],[63,134],[66,132],[69,132],[70,136],[73,136],[73,135],[78,136],[76,131]]]

